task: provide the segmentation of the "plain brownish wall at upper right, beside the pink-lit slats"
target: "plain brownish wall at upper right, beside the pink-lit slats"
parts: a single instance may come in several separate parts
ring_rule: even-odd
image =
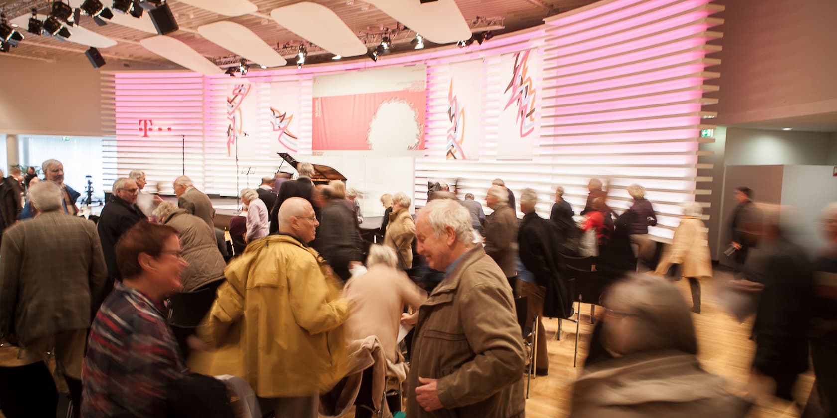
[[[837,2],[718,0],[718,125],[837,111]]]

